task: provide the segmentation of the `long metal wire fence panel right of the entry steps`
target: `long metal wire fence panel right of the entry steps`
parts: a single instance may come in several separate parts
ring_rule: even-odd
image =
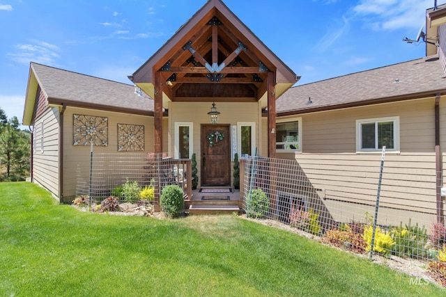
[[[242,208],[249,217],[278,220],[334,246],[369,252],[380,156],[367,156],[361,165],[330,158],[302,165],[287,159],[247,159],[241,175]],[[446,227],[438,223],[444,222],[443,200],[437,203],[436,195],[441,172],[390,161],[384,162],[382,177],[374,252],[436,262],[446,252]]]

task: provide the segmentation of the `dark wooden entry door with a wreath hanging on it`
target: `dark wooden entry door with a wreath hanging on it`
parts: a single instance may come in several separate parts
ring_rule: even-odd
[[[201,125],[201,184],[231,185],[229,125]]]

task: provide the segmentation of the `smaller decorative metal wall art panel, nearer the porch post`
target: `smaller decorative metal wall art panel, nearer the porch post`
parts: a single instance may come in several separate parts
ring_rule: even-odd
[[[144,152],[144,126],[118,124],[118,152]]]

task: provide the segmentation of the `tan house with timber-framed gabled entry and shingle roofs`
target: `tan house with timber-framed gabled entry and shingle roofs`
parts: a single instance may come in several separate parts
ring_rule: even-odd
[[[427,10],[429,36],[445,30],[445,11]],[[199,186],[231,185],[233,154],[258,147],[261,156],[297,160],[328,209],[348,208],[373,204],[376,183],[345,172],[367,171],[385,145],[396,169],[383,209],[443,220],[441,35],[439,42],[426,44],[424,58],[291,88],[299,77],[222,1],[209,0],[129,76],[136,90],[31,63],[23,123],[33,126],[33,181],[70,202],[75,183],[88,179],[78,172],[88,172],[79,168],[88,168],[93,143],[95,152],[195,152]],[[129,129],[137,141],[123,140]],[[420,174],[417,188],[406,187]]]

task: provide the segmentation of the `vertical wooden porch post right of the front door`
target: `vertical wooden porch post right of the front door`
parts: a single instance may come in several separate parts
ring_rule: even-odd
[[[276,157],[276,89],[275,73],[268,72],[268,156]]]

